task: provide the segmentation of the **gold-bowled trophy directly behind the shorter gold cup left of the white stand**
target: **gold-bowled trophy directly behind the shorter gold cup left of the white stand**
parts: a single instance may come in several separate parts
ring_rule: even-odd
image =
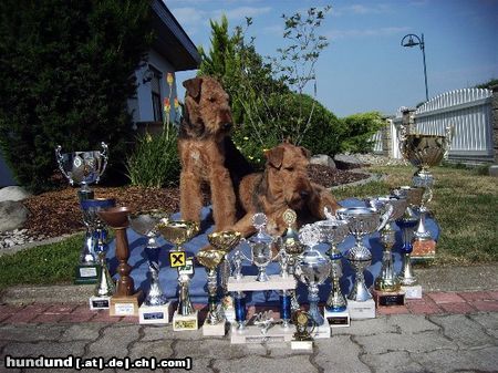
[[[228,260],[228,253],[239,244],[242,235],[235,230],[225,230],[219,232],[212,232],[208,235],[208,241],[211,246],[224,252],[224,260],[220,263],[220,280],[221,289],[224,292],[221,307],[225,312],[225,317],[228,321],[235,320],[234,300],[228,293],[228,278],[230,277],[231,268]],[[241,265],[241,263],[240,263]],[[240,269],[241,270],[241,269]]]

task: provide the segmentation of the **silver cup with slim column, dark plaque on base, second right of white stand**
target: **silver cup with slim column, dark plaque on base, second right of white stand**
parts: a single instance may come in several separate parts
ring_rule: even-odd
[[[325,214],[326,215],[326,214]],[[332,288],[325,304],[325,318],[331,327],[349,327],[350,313],[347,301],[341,291],[340,279],[342,277],[342,253],[336,245],[341,244],[350,234],[347,221],[328,216],[326,220],[317,221],[322,240],[330,244],[326,256],[331,261],[330,282]]]

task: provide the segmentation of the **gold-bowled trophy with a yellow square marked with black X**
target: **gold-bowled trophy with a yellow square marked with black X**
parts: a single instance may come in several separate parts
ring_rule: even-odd
[[[186,258],[183,246],[199,232],[199,226],[194,221],[168,220],[160,222],[157,229],[166,240],[175,245],[169,251],[169,265],[178,270],[178,305],[173,314],[173,330],[197,330],[198,311],[194,309],[189,294],[194,263],[191,258]]]

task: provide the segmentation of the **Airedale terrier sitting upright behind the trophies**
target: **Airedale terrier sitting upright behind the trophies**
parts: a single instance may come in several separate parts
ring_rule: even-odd
[[[178,134],[180,173],[180,215],[200,222],[201,187],[210,187],[212,216],[217,231],[236,222],[234,183],[252,172],[229,138],[234,125],[229,96],[210,76],[184,82],[184,115]]]

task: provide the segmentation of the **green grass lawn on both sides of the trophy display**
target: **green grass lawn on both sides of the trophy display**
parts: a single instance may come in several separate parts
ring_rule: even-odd
[[[372,167],[386,174],[383,182],[335,189],[338,199],[385,195],[391,188],[409,185],[414,167]],[[429,209],[442,234],[434,266],[498,261],[498,180],[478,170],[436,167]],[[64,241],[0,257],[0,289],[21,283],[72,282],[83,235]]]

